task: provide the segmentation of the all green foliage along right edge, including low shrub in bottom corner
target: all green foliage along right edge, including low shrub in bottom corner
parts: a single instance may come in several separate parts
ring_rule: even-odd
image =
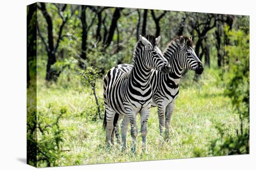
[[[241,30],[228,30],[226,27],[231,45],[226,46],[225,50],[226,58],[232,64],[229,64],[223,76],[226,80],[224,94],[230,98],[233,112],[239,116],[240,124],[236,128],[236,135],[227,135],[228,129],[216,124],[219,138],[209,142],[208,151],[196,147],[195,157],[249,153],[249,34]]]

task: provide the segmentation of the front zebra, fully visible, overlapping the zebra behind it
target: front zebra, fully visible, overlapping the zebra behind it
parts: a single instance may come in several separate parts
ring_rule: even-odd
[[[139,37],[133,54],[134,67],[127,71],[122,67],[124,64],[118,65],[110,69],[104,78],[103,128],[107,132],[107,149],[113,144],[114,121],[121,114],[128,117],[131,124],[132,151],[135,152],[137,113],[141,114],[142,148],[146,148],[147,121],[153,95],[150,85],[151,69],[162,74],[168,74],[170,70],[168,61],[157,47],[161,37]]]

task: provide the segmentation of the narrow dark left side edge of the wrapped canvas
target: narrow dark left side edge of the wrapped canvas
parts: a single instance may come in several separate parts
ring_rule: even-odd
[[[36,166],[37,4],[27,6],[27,164]]]

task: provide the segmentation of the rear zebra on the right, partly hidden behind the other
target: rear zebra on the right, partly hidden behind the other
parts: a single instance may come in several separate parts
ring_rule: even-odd
[[[163,53],[168,60],[171,70],[164,75],[157,70],[151,70],[150,84],[153,91],[151,107],[158,107],[157,113],[159,118],[160,136],[162,138],[164,127],[165,139],[169,139],[169,124],[171,115],[175,108],[175,100],[179,94],[179,81],[182,76],[183,69],[194,70],[196,74],[201,75],[203,66],[200,59],[193,50],[192,36],[190,38],[179,36],[174,38]],[[131,70],[134,66],[123,64],[123,69]],[[118,121],[118,120],[116,120]],[[126,135],[128,119],[124,117],[121,123],[121,133]],[[115,126],[115,135],[119,140],[119,123]],[[123,143],[126,141],[123,141]]]

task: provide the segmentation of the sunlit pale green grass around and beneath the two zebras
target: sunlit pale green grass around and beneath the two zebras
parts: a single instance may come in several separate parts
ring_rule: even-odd
[[[227,129],[227,134],[236,134],[239,119],[232,112],[228,97],[223,95],[224,88],[216,84],[217,75],[206,69],[199,82],[193,82],[192,71],[181,80],[180,94],[176,100],[175,112],[171,119],[171,138],[160,145],[159,124],[156,108],[151,109],[148,120],[147,152],[141,151],[141,135],[137,138],[137,151],[130,151],[131,137],[128,132],[128,150],[121,146],[106,151],[105,132],[102,120],[95,119],[96,106],[89,88],[79,94],[80,83],[65,84],[61,77],[57,84],[46,85],[43,78],[38,84],[38,110],[55,112],[44,114],[54,117],[61,107],[67,108],[67,114],[61,118],[64,129],[64,156],[59,165],[101,164],[129,161],[160,160],[193,157],[195,147],[207,149],[209,141],[219,137],[215,126],[219,123]],[[79,80],[78,77],[73,79]],[[97,94],[102,102],[102,81],[99,80]],[[103,112],[102,112],[103,113]],[[97,115],[96,115],[97,116]],[[137,117],[138,125],[139,117]],[[138,126],[140,131],[140,126]]]

